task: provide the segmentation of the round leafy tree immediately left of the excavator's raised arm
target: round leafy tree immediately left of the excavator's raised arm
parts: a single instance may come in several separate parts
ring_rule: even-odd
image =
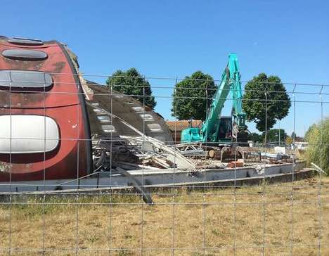
[[[185,77],[172,94],[172,116],[178,120],[205,120],[216,89],[214,79],[201,71]]]

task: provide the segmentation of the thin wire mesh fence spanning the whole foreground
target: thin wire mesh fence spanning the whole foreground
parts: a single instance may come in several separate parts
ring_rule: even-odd
[[[226,131],[217,127],[226,141],[181,143],[183,129],[200,133],[206,122],[179,120],[179,101],[203,102],[207,118],[222,80],[208,89],[177,87],[182,78],[122,77],[152,84],[153,110],[146,86],[122,94],[138,86],[49,75],[51,85],[45,75],[1,84],[1,255],[329,254],[329,85],[283,83],[291,107],[273,128],[292,133],[290,141],[268,127],[257,143],[237,141],[228,87],[217,98],[225,105],[217,117],[231,120]],[[28,82],[33,89],[18,86]],[[264,120],[273,112],[267,103],[287,101],[273,100],[282,91],[255,92],[264,98],[248,101],[265,102]],[[320,148],[317,162],[297,141],[314,123],[306,151]]]

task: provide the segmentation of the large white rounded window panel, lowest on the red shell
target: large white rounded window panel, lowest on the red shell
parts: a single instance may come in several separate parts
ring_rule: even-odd
[[[55,120],[42,115],[1,115],[0,153],[44,153],[59,143]]]

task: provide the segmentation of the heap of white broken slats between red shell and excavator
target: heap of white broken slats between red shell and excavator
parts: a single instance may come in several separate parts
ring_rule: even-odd
[[[148,136],[120,136],[113,139],[97,139],[93,145],[96,168],[102,171],[122,169],[167,169],[193,170],[193,163],[164,145],[162,141]]]

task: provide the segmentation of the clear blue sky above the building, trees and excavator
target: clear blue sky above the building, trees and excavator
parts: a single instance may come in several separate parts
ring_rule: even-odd
[[[147,77],[185,77],[202,70],[219,79],[228,53],[237,53],[243,81],[266,72],[283,82],[329,84],[328,1],[2,0],[1,9],[6,10],[1,12],[1,34],[65,42],[79,56],[85,74],[110,75],[135,67]],[[172,87],[174,80],[150,82],[159,96],[157,112],[173,119],[172,89],[156,87]],[[295,91],[320,89],[300,85]],[[329,94],[329,87],[322,92]],[[299,135],[321,119],[321,98],[295,94],[295,99],[295,112],[291,108],[280,127],[291,134],[295,120]],[[329,96],[322,100],[329,102]],[[228,101],[226,112],[230,106]],[[322,110],[329,115],[329,104]]]

